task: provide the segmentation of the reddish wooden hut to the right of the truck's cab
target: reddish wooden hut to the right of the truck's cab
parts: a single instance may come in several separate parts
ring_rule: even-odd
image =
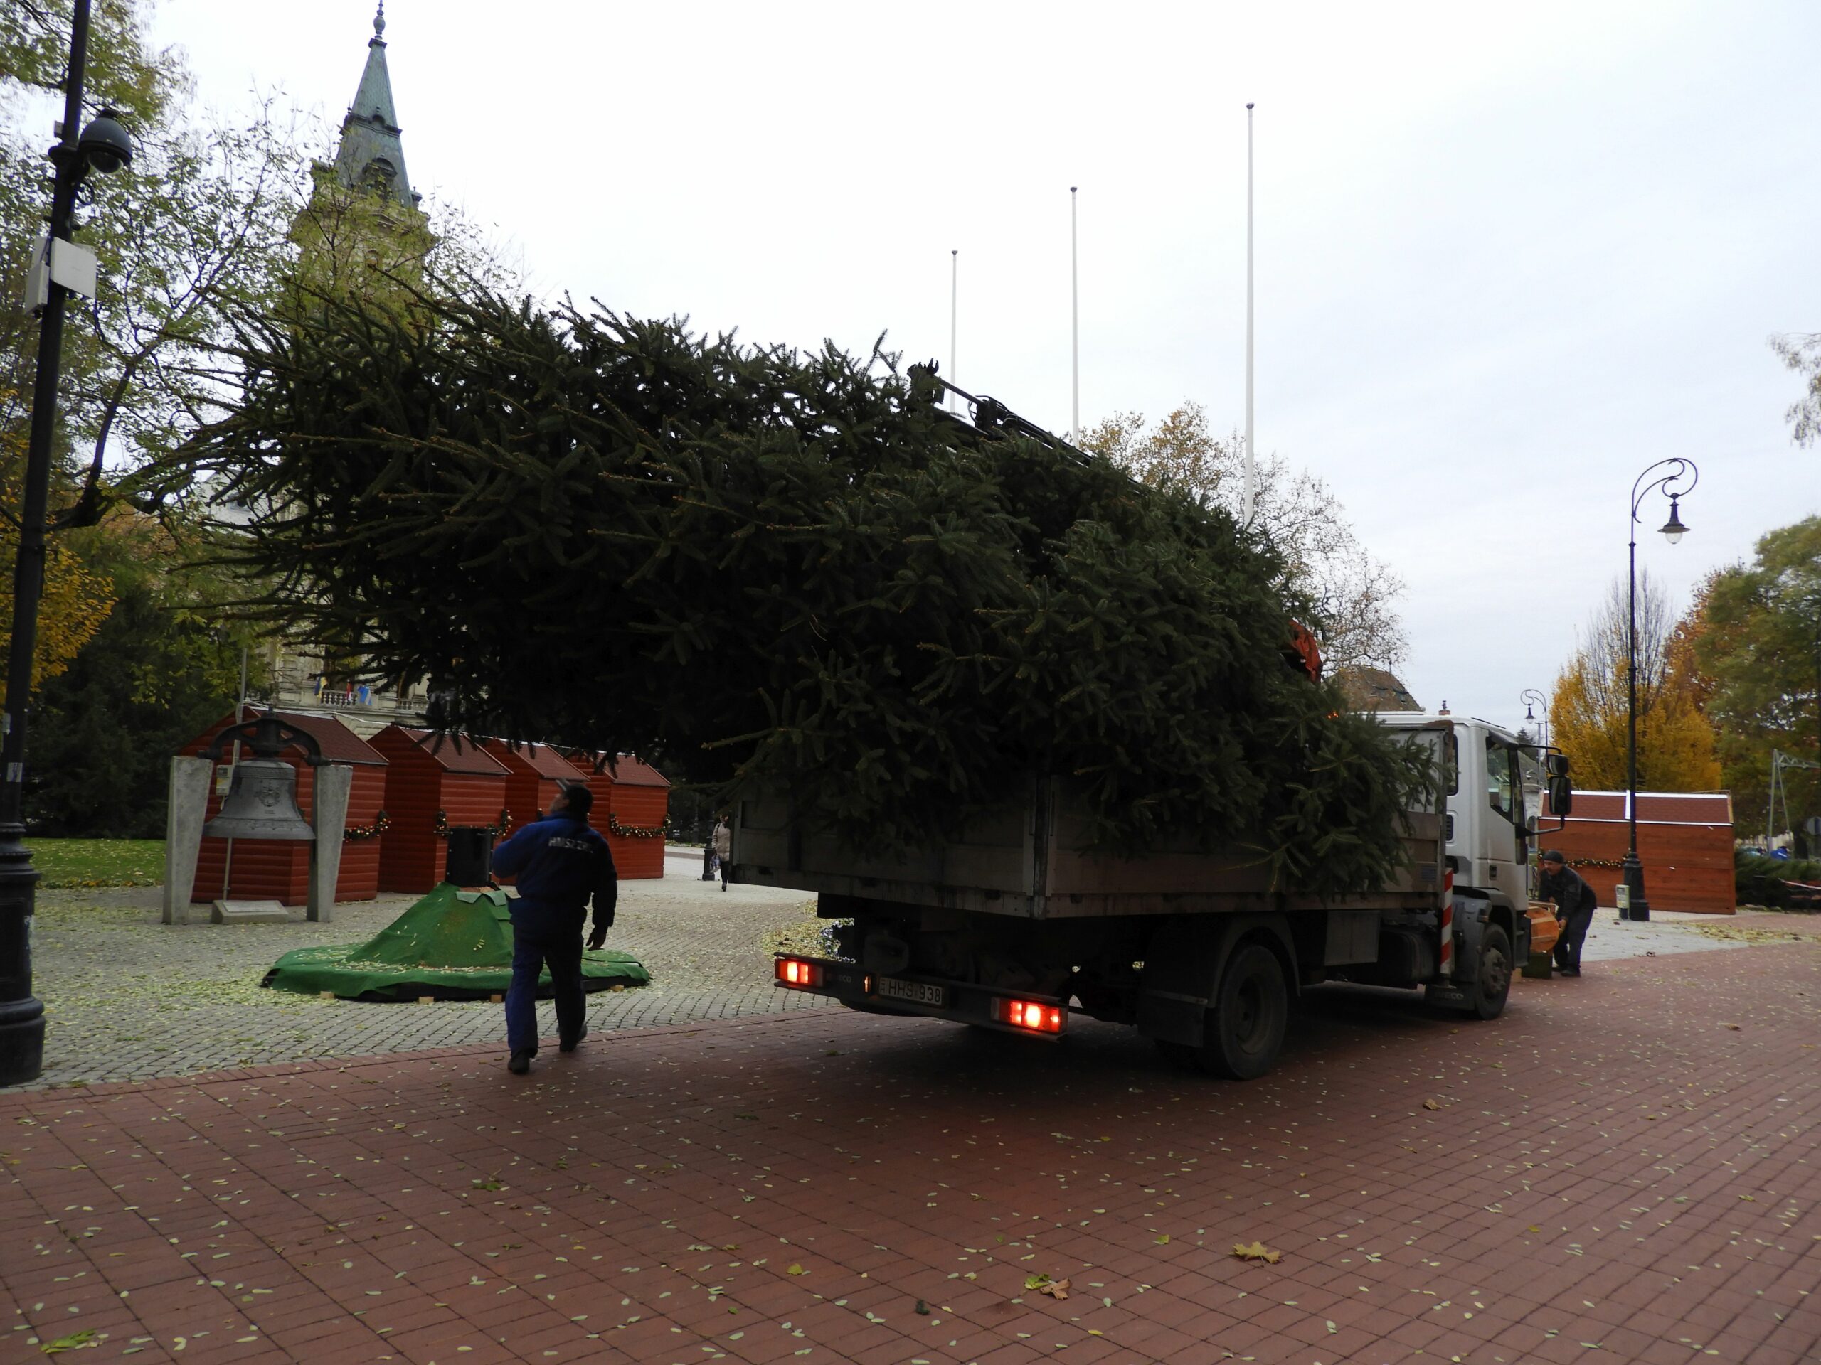
[[[1542,823],[1544,828],[1555,823],[1546,806]],[[1617,905],[1624,852],[1630,846],[1626,794],[1575,792],[1568,824],[1555,834],[1539,835],[1537,843],[1539,850],[1562,850],[1568,864],[1599,892],[1601,905]],[[1637,857],[1644,864],[1644,895],[1652,910],[1734,914],[1737,895],[1732,850],[1730,794],[1637,794]]]

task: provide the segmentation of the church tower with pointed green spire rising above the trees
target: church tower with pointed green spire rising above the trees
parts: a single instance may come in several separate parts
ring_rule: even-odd
[[[422,278],[424,257],[437,240],[419,207],[422,195],[412,189],[404,169],[384,35],[386,5],[381,0],[335,160],[319,160],[310,167],[310,204],[291,224],[302,308],[313,293],[351,293],[362,300],[402,293],[397,282],[417,284]]]

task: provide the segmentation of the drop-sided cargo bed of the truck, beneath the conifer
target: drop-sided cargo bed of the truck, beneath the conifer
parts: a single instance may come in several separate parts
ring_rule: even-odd
[[[1273,890],[1269,870],[1233,850],[1167,844],[1144,857],[1091,852],[1080,806],[1060,784],[982,812],[960,834],[907,857],[867,857],[805,828],[783,797],[761,795],[734,817],[734,881],[865,901],[943,906],[1025,919],[1258,910],[1433,910],[1442,886],[1442,817],[1409,817],[1409,857],[1386,886],[1349,897]]]

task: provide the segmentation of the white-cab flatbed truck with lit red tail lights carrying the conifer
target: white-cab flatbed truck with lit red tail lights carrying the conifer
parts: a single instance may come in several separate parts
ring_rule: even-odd
[[[836,952],[778,954],[776,983],[869,1014],[1043,1039],[1087,1016],[1233,1079],[1271,1068],[1295,997],[1326,981],[1420,988],[1495,1019],[1530,952],[1542,792],[1570,810],[1566,759],[1488,721],[1378,719],[1440,779],[1408,814],[1400,870],[1348,897],[1275,888],[1256,861],[1187,841],[1094,852],[1062,779],[903,857],[845,848],[756,795],[734,812],[730,879],[814,892],[839,921]]]

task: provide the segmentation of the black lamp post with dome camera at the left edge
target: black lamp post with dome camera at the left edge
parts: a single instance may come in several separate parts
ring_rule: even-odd
[[[104,109],[82,127],[82,78],[89,47],[89,0],[75,0],[69,24],[69,73],[64,80],[62,136],[49,151],[56,167],[51,189],[49,238],[42,269],[38,375],[31,393],[31,444],[25,450],[25,491],[18,515],[18,559],[13,566],[13,641],[7,650],[5,715],[0,717],[0,1085],[36,1079],[44,1070],[44,1005],[31,994],[31,919],[38,870],[25,848],[25,712],[31,661],[38,644],[38,601],[44,597],[44,524],[51,497],[51,444],[56,435],[56,377],[64,346],[64,300],[69,266],[86,253],[73,248],[69,224],[76,189],[89,169],[118,171],[133,144]],[[78,136],[80,129],[80,136]],[[87,257],[93,268],[93,257]],[[80,271],[78,271],[80,273]]]

